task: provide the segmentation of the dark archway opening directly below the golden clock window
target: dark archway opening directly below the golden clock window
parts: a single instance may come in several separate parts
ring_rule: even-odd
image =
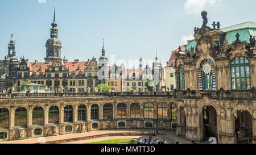
[[[203,140],[218,137],[217,112],[213,106],[203,107]]]

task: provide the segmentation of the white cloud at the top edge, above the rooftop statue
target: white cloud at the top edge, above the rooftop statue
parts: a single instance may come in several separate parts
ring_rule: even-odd
[[[187,0],[184,9],[187,14],[198,15],[205,6],[214,6],[221,2],[222,0]]]

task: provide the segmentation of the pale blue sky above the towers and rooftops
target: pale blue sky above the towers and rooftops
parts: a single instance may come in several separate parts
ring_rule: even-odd
[[[256,22],[255,0],[5,0],[0,5],[1,60],[13,32],[18,57],[44,61],[54,3],[61,56],[69,61],[99,58],[104,38],[109,58],[154,60],[158,49],[166,65],[171,51],[201,27],[202,10],[208,11],[208,26]]]

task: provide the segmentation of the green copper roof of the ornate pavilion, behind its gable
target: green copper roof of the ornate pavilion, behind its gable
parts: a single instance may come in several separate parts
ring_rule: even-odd
[[[256,23],[246,22],[234,26],[222,28],[221,31],[226,32],[226,39],[229,45],[236,41],[236,34],[239,33],[240,40],[250,43],[250,35],[256,36]],[[196,48],[196,40],[188,40],[187,49],[190,51],[191,47]]]

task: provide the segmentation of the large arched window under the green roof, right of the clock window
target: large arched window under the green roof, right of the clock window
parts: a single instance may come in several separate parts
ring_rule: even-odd
[[[245,57],[236,57],[231,61],[232,90],[251,89],[249,65]]]

